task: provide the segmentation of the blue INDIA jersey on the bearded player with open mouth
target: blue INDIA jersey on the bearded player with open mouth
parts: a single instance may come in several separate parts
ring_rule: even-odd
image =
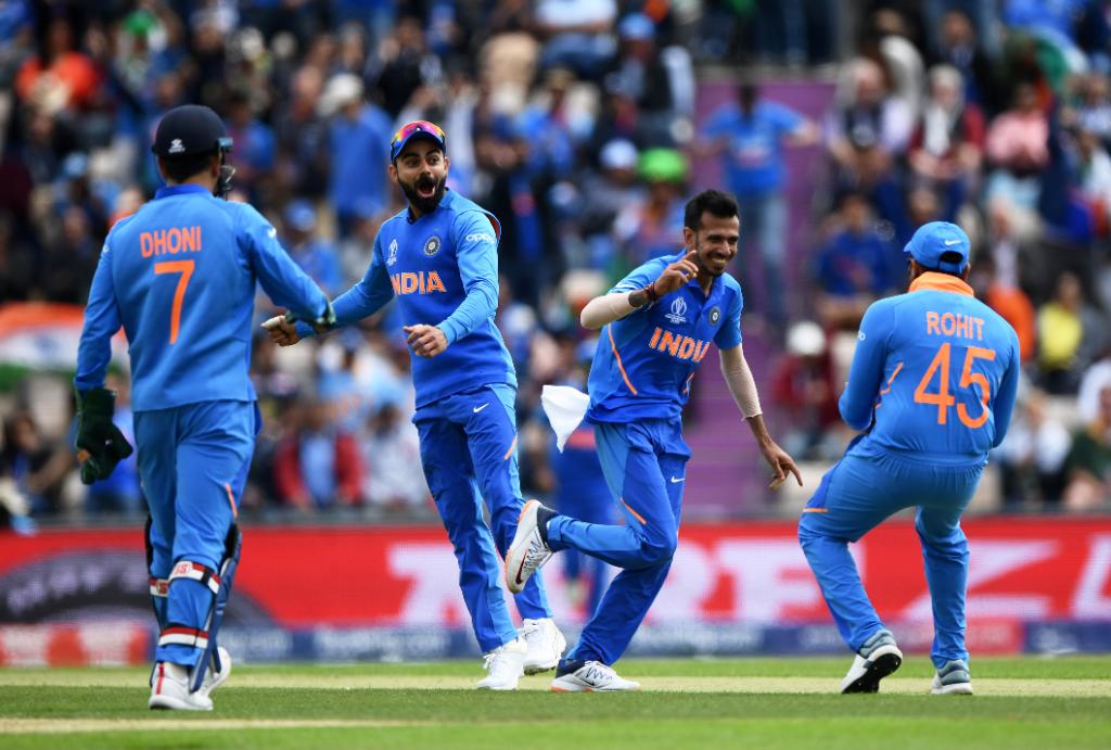
[[[398,298],[406,326],[436,326],[448,348],[412,357],[417,406],[479,386],[517,387],[517,373],[498,311],[498,241],[492,213],[451,190],[434,211],[413,219],[406,209],[378,230],[370,268],[333,303],[336,322],[348,326]],[[298,324],[301,336],[312,329]]]

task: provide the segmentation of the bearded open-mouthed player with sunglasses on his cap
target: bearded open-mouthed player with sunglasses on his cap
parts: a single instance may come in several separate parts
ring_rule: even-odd
[[[522,673],[553,669],[567,643],[540,581],[517,597],[520,634],[500,583],[499,550],[509,546],[523,504],[517,374],[493,322],[501,226],[447,189],[448,167],[444,133],[434,123],[410,122],[394,133],[389,170],[409,206],[382,224],[367,274],[334,300],[336,319],[349,326],[398,299],[413,354],[421,463],[486,653],[489,673],[478,687],[514,690]],[[267,327],[281,346],[313,332],[281,318]]]

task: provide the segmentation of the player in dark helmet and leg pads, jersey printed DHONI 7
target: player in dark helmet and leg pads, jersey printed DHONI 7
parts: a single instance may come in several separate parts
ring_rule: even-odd
[[[108,477],[131,447],[104,388],[110,340],[131,356],[134,439],[147,497],[147,558],[159,623],[152,709],[211,710],[231,671],[217,631],[239,560],[236,523],[260,427],[248,377],[256,282],[327,327],[331,306],[250,206],[222,200],[233,169],[207,107],[171,110],[152,151],[166,181],[104,241],[78,349],[81,479]]]

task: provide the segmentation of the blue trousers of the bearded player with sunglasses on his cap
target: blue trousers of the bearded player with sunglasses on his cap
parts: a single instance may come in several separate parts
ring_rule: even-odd
[[[420,407],[413,416],[424,478],[454,547],[459,588],[483,652],[517,638],[501,586],[501,556],[524,504],[514,397],[509,386],[483,386]],[[483,499],[490,526],[482,517]],[[529,580],[516,602],[522,618],[551,617],[540,576]]]

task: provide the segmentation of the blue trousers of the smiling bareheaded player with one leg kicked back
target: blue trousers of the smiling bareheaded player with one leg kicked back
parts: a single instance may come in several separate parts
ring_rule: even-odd
[[[575,549],[623,568],[567,656],[612,664],[629,647],[668,578],[679,543],[690,448],[679,420],[599,423],[594,437],[605,483],[625,524],[557,516],[548,523],[548,542],[553,550]]]

